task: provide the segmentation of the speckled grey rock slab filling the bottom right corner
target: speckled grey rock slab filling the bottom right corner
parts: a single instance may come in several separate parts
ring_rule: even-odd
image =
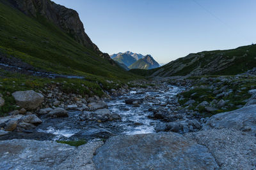
[[[256,145],[253,136],[234,129],[211,129],[185,136],[206,146],[220,169],[255,169]]]

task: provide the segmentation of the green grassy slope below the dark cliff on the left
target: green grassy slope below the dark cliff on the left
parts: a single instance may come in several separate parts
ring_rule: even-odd
[[[0,0],[0,23],[0,53],[6,57],[17,57],[54,73],[113,79],[133,77],[74,41],[44,17],[28,17],[7,0]]]

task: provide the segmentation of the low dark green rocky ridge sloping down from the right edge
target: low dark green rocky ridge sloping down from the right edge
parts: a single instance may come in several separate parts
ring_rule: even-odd
[[[215,50],[190,53],[186,57],[147,71],[135,70],[132,73],[147,76],[200,76],[235,75],[244,73],[256,66],[256,45],[240,46],[231,50]]]

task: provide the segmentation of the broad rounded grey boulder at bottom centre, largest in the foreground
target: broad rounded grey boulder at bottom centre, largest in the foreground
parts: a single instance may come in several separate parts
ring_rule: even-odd
[[[93,158],[97,169],[215,169],[209,150],[175,133],[115,136]]]

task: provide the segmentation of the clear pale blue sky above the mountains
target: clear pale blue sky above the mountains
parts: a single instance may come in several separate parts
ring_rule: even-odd
[[[255,0],[52,0],[79,13],[102,52],[150,54],[168,63],[189,53],[256,43]]]

